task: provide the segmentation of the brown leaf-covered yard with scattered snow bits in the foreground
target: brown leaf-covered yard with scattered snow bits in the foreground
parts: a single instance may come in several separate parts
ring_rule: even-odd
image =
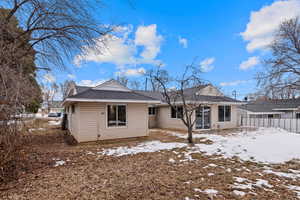
[[[104,152],[185,139],[152,130],[147,138],[69,146],[58,127],[41,126],[30,130],[34,137],[24,149],[31,168],[0,185],[0,199],[297,199],[297,161],[266,165],[200,152],[189,157],[186,147],[115,156]]]

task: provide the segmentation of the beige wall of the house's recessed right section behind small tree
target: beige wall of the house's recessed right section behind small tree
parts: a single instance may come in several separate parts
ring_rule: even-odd
[[[236,128],[238,126],[238,109],[236,105],[231,105],[231,120],[229,122],[219,122],[217,104],[209,106],[211,107],[211,129],[229,129]],[[181,119],[171,118],[171,109],[169,106],[159,107],[157,113],[157,126],[159,128],[187,130]]]

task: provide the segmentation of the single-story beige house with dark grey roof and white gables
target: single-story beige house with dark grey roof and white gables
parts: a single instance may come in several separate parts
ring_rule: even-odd
[[[186,89],[185,96],[197,96],[202,104],[194,130],[237,127],[240,101],[212,85]],[[149,128],[186,130],[180,104],[171,109],[161,93],[130,90],[115,80],[96,87],[73,85],[63,105],[67,127],[78,142],[147,136]]]

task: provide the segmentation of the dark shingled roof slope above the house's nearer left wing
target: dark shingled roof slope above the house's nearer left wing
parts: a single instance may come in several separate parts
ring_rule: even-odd
[[[124,91],[110,91],[110,90],[96,90],[87,89],[84,92],[78,93],[73,96],[69,96],[70,99],[102,99],[102,100],[137,100],[137,101],[156,101],[156,99],[145,96],[136,92],[124,92]]]

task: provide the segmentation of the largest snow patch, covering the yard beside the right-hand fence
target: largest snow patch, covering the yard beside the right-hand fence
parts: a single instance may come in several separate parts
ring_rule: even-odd
[[[179,133],[171,133],[186,138]],[[257,131],[240,132],[232,136],[215,134],[194,134],[194,138],[205,138],[213,144],[195,144],[190,151],[202,151],[207,155],[223,155],[226,158],[238,156],[242,160],[263,163],[284,163],[300,159],[300,134],[278,128],[259,128]]]

